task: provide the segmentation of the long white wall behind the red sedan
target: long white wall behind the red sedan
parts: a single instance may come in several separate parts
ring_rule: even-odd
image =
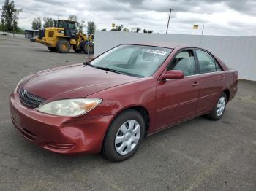
[[[256,81],[256,36],[200,36],[96,31],[94,55],[99,55],[118,44],[132,42],[175,42],[200,46],[217,55],[231,68],[238,70],[240,79]]]

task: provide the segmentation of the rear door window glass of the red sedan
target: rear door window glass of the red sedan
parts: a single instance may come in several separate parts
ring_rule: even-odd
[[[197,53],[200,74],[222,71],[217,61],[208,52],[203,50],[195,50],[195,52]]]

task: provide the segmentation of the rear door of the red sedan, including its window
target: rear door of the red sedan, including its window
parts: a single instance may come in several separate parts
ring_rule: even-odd
[[[200,93],[197,104],[197,114],[210,112],[215,106],[217,98],[222,93],[225,73],[210,52],[196,49],[198,70],[200,73]]]

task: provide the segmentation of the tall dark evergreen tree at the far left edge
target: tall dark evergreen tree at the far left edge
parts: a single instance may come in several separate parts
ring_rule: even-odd
[[[14,1],[5,0],[1,12],[1,26],[3,31],[18,30],[18,15],[22,9],[15,9]]]

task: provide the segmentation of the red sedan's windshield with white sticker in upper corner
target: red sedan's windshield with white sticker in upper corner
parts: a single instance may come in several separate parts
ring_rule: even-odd
[[[149,77],[165,61],[172,49],[143,45],[120,45],[91,61],[90,65],[135,77]]]

